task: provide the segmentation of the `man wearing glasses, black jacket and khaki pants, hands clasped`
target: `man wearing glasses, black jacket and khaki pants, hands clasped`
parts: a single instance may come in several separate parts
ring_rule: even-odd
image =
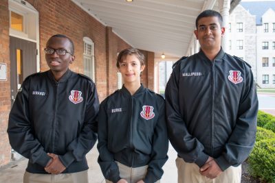
[[[29,159],[24,183],[88,182],[85,155],[97,140],[96,86],[69,70],[75,56],[67,36],[52,36],[45,58],[50,70],[28,76],[14,101],[10,145]]]

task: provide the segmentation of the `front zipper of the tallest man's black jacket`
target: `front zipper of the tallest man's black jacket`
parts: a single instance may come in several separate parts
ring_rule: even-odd
[[[210,143],[210,152],[211,156],[213,156],[213,136],[214,136],[214,60],[211,62],[212,64],[212,108],[211,108],[211,143]]]

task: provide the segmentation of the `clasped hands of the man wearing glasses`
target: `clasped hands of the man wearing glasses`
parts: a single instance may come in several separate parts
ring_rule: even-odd
[[[58,155],[52,153],[48,153],[47,155],[52,158],[52,160],[50,160],[45,167],[45,171],[47,171],[47,173],[57,175],[65,171],[66,167],[63,165]]]

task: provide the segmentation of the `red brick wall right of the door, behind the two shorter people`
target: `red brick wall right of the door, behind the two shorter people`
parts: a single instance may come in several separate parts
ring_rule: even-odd
[[[129,47],[129,45],[114,34],[111,27],[104,27],[72,1],[28,0],[28,2],[39,11],[41,71],[48,69],[43,54],[48,38],[54,34],[65,34],[72,38],[75,44],[76,62],[72,64],[71,69],[83,73],[83,37],[87,36],[95,44],[95,82],[100,101],[113,93],[117,89],[116,56],[119,51]],[[147,54],[146,51],[144,52]],[[150,57],[147,69],[152,69],[151,62]],[[142,78],[147,80],[147,75],[144,74]]]

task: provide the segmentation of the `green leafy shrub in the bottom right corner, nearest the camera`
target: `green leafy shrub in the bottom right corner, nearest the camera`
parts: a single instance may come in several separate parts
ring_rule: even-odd
[[[254,177],[275,183],[275,138],[256,142],[248,158],[249,171]]]

